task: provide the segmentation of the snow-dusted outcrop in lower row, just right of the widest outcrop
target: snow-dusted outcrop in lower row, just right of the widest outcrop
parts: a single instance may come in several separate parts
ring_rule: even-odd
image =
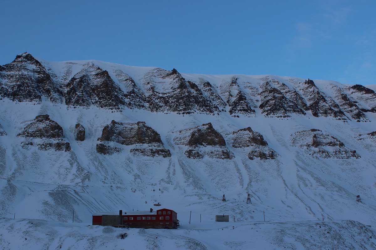
[[[174,138],[176,145],[185,145],[185,156],[202,159],[204,156],[217,159],[232,159],[234,154],[226,147],[223,136],[211,123],[180,130]]]

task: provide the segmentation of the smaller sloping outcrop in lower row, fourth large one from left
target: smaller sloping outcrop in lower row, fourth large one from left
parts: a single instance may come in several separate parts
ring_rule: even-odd
[[[264,140],[264,137],[253,131],[250,127],[239,129],[230,134],[227,134],[229,141],[233,148],[240,148],[247,151],[248,158],[254,160],[259,158],[261,160],[276,159],[278,154],[268,147],[268,143]]]

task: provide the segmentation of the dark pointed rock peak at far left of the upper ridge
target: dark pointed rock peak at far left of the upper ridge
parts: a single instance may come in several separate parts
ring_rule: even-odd
[[[61,91],[31,54],[23,53],[0,67],[0,96],[17,102],[41,102],[42,96],[61,103]]]

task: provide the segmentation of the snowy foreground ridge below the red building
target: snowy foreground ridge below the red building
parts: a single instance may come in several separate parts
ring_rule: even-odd
[[[376,233],[351,220],[195,223],[121,229],[0,219],[0,247],[14,249],[376,249]],[[120,234],[126,232],[126,239]]]

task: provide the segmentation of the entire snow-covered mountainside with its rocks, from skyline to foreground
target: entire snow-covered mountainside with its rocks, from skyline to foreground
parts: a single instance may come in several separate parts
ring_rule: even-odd
[[[17,55],[0,249],[376,249],[376,87],[308,77]],[[91,225],[156,202],[178,229]]]

